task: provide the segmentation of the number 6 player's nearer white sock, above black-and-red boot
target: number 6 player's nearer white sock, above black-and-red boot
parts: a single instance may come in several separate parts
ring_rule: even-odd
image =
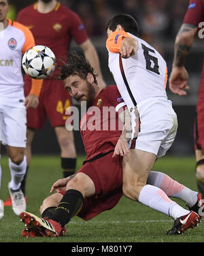
[[[174,219],[190,212],[169,199],[163,190],[152,185],[143,186],[138,201]]]

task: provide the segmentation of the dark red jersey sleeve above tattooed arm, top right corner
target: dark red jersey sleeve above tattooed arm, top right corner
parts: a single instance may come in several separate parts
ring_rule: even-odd
[[[204,0],[190,0],[183,23],[198,26],[204,21]]]

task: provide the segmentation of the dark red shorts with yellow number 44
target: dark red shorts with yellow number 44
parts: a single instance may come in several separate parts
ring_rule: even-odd
[[[25,96],[30,91],[31,80],[26,79],[24,85]],[[41,129],[44,127],[47,118],[52,127],[65,126],[66,119],[69,117],[69,115],[65,115],[65,111],[71,105],[71,97],[66,91],[63,81],[44,80],[37,109],[27,109],[27,126],[33,129]]]

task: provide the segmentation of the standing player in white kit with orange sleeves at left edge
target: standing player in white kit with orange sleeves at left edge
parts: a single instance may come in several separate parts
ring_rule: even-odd
[[[12,208],[15,214],[19,215],[26,209],[26,201],[20,189],[27,169],[25,156],[26,108],[37,107],[41,81],[32,79],[31,93],[25,99],[21,59],[22,55],[35,45],[35,40],[27,27],[6,18],[9,10],[10,2],[1,0],[0,22],[4,29],[0,36],[0,142],[5,145],[9,156],[11,181],[8,188]],[[0,207],[2,216],[3,205]]]

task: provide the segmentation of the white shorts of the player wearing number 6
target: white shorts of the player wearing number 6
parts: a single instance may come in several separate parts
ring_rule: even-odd
[[[144,100],[138,104],[140,130],[137,139],[129,141],[129,148],[135,148],[156,155],[157,158],[165,156],[173,144],[177,132],[177,115],[173,111],[170,100]],[[137,130],[138,118],[133,117],[133,130]],[[137,126],[136,126],[137,124]]]

